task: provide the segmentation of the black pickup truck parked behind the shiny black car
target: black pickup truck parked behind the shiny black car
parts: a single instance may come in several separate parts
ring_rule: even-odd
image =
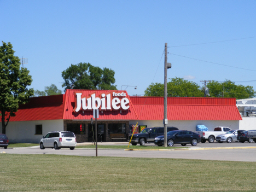
[[[177,127],[167,127],[167,132],[179,130]],[[128,142],[131,140],[131,144],[136,146],[139,143],[141,146],[144,146],[145,143],[154,142],[155,137],[160,135],[164,135],[164,127],[152,127],[152,128],[145,128],[140,133],[136,133],[129,135]],[[132,136],[132,139],[131,139]]]

